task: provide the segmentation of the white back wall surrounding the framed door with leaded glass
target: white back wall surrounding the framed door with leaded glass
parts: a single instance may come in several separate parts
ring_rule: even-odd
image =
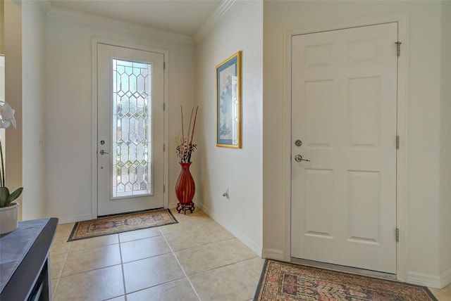
[[[73,18],[72,15],[70,18]],[[79,18],[79,16],[75,16]],[[89,18],[88,18],[89,19]],[[80,20],[87,20],[81,16]],[[176,203],[173,187],[180,167],[175,157],[180,104],[194,104],[194,46],[127,30],[129,26],[79,23],[48,15],[46,20],[47,102],[45,122],[47,214],[71,222],[92,217],[92,37],[153,46],[169,51],[169,202]],[[106,25],[105,25],[106,24]],[[113,24],[113,25],[112,25]],[[194,162],[194,164],[196,164]],[[195,174],[194,174],[195,176]]]

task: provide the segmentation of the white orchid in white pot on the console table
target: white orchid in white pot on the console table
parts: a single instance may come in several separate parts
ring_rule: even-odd
[[[16,110],[11,108],[11,105],[4,103],[0,105],[0,128],[6,129],[11,124],[16,129],[16,119],[14,113]],[[5,186],[5,165],[3,150],[1,148],[0,140],[0,234],[8,233],[17,229],[18,219],[18,203],[13,203],[20,196],[23,187],[17,188],[13,193],[9,192],[8,187]]]

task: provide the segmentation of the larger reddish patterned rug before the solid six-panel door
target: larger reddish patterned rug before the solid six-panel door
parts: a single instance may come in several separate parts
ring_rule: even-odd
[[[266,260],[256,300],[437,301],[424,286]]]

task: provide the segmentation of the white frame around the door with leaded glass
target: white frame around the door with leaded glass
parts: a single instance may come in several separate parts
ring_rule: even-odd
[[[168,118],[168,110],[166,110],[168,106],[168,53],[169,51],[165,49],[157,49],[154,47],[149,46],[142,46],[137,44],[130,44],[130,43],[124,43],[120,41],[113,41],[110,39],[102,39],[98,37],[92,38],[92,91],[91,91],[91,98],[92,98],[92,211],[91,211],[91,218],[97,219],[97,176],[98,176],[98,170],[97,170],[97,44],[108,44],[111,46],[118,46],[118,47],[124,47],[124,48],[130,48],[130,49],[136,49],[140,51],[149,51],[149,52],[155,52],[155,53],[161,53],[164,57],[164,63],[165,68],[163,70],[163,145],[168,145],[168,129],[169,129],[169,118]],[[163,184],[165,189],[163,189],[163,206],[165,208],[168,208],[169,206],[169,199],[168,199],[168,191],[166,189],[166,186],[168,186],[168,170],[169,170],[169,157],[168,152],[166,149],[163,151]]]

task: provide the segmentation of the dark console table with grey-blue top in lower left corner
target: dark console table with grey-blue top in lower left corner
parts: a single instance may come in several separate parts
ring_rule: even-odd
[[[51,300],[49,250],[58,219],[19,222],[0,235],[0,300]]]

